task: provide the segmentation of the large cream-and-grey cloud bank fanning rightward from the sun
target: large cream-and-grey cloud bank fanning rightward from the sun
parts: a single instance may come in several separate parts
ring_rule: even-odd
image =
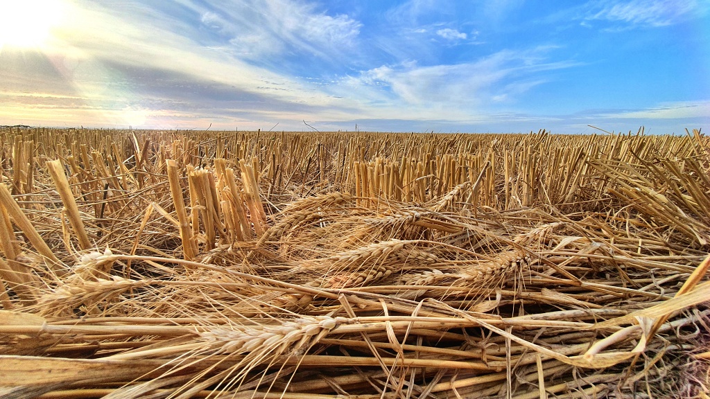
[[[151,126],[168,121],[165,124],[173,128],[187,123],[207,126],[209,122],[202,121],[209,118],[231,128],[232,121],[246,118],[256,128],[263,127],[259,123],[265,120],[339,114],[346,100],[277,68],[253,65],[246,62],[249,57],[210,43],[224,40],[224,47],[229,47],[229,39],[238,38],[237,45],[253,56],[264,46],[292,54],[329,56],[356,40],[360,25],[347,16],[330,16],[296,2],[281,3],[285,11],[280,15],[274,11],[278,22],[271,25],[264,21],[271,18],[268,13],[247,25],[191,0],[182,1],[185,8],[180,9],[184,14],[180,18],[156,9],[160,4],[127,3],[111,8],[88,1],[67,3],[65,21],[53,31],[46,54],[38,54],[44,67],[28,73],[26,65],[34,60],[9,51],[1,54],[5,70],[14,68],[3,72],[10,75],[0,76],[4,92],[48,93],[41,101],[14,97],[4,102],[6,110],[40,124],[46,124],[41,122],[45,120],[86,126],[93,121],[94,126],[122,126],[124,119],[119,116],[129,109],[126,114],[131,118]],[[288,16],[289,10],[300,13]],[[268,28],[268,34],[262,35],[260,28]],[[18,61],[6,62],[11,57]],[[17,78],[9,79],[13,76]],[[6,110],[0,114],[6,115]],[[239,125],[245,127],[242,122]]]

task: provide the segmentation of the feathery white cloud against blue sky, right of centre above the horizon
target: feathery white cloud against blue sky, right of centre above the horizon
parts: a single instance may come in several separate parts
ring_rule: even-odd
[[[421,107],[415,113],[425,114],[446,109],[449,113],[470,116],[492,102],[513,101],[511,94],[541,84],[544,80],[535,78],[539,72],[577,65],[572,61],[547,60],[550,50],[502,50],[475,62],[453,65],[420,66],[417,62],[382,65],[348,77],[340,88],[360,88],[359,97],[369,98],[379,106]]]

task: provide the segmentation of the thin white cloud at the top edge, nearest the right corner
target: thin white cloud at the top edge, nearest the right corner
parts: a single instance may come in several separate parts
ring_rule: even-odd
[[[668,26],[703,11],[697,0],[601,1],[586,19],[623,23],[627,26]]]

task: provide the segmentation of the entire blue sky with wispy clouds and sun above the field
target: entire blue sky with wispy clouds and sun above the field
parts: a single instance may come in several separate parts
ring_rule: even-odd
[[[662,134],[709,122],[710,0],[0,0],[0,125]]]

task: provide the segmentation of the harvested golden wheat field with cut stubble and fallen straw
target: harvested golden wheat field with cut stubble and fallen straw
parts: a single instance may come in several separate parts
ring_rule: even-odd
[[[707,398],[710,146],[0,131],[3,398]]]

